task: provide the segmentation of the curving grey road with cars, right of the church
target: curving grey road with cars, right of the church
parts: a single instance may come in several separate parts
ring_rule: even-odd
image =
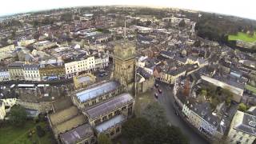
[[[173,107],[173,87],[167,86],[162,82],[158,82],[158,84],[159,88],[162,89],[162,94],[159,95],[158,102],[166,109],[166,116],[170,124],[173,126],[178,126],[182,130],[182,133],[186,134],[186,136],[190,139],[191,144],[208,143],[204,138],[194,132],[194,130],[191,129],[190,126],[188,126],[186,122],[182,120],[182,118],[175,114],[175,110]]]

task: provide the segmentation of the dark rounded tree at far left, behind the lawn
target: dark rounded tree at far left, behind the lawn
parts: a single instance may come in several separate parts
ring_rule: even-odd
[[[26,110],[22,106],[13,106],[9,118],[14,126],[24,126],[27,118]]]

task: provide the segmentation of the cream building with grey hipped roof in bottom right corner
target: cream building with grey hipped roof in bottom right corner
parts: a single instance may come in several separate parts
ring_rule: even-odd
[[[237,111],[230,124],[228,133],[230,143],[253,143],[256,138],[256,117]]]

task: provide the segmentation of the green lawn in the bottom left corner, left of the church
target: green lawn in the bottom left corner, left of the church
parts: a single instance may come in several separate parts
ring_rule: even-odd
[[[26,122],[25,126],[22,128],[18,128],[15,126],[4,126],[0,128],[0,144],[44,144],[51,143],[51,135],[50,132],[46,131],[46,134],[39,138],[38,134],[36,134],[36,126],[40,125],[43,129],[46,127],[45,122],[40,122],[38,124],[31,122]],[[28,134],[30,131],[34,131],[34,134],[31,138],[28,138]]]

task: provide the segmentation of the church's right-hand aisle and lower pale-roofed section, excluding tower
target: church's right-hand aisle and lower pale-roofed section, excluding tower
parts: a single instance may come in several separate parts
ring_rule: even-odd
[[[110,138],[121,134],[122,122],[133,114],[134,98],[129,93],[119,94],[109,101],[84,110],[91,126],[97,133],[105,133]]]

